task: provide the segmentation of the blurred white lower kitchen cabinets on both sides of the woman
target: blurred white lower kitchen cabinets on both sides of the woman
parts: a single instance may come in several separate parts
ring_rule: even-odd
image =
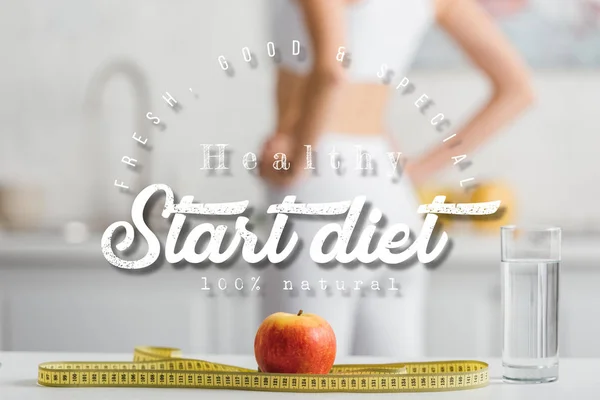
[[[245,271],[245,272],[241,272]],[[246,288],[250,268],[176,268],[125,273],[104,260],[65,261],[60,267],[0,265],[0,349],[129,352],[136,345],[180,347],[194,353],[253,351],[260,323],[258,293]],[[204,291],[219,278],[230,289]],[[428,306],[427,355],[501,354],[499,266],[458,265],[435,270]],[[560,288],[560,354],[600,357],[600,271],[569,263]]]

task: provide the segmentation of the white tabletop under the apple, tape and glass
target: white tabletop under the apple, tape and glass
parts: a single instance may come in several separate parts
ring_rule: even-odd
[[[185,355],[208,361],[256,368],[252,357],[244,356],[197,356]],[[210,394],[200,389],[140,389],[140,388],[51,388],[38,386],[38,364],[48,361],[131,361],[131,354],[87,354],[87,353],[28,353],[0,352],[0,399],[279,399],[299,397],[319,397],[321,399],[356,398],[353,393],[270,393],[250,391],[211,390]],[[440,359],[441,360],[441,359]],[[378,363],[398,360],[350,357],[341,360],[343,363]],[[403,360],[407,361],[407,360]],[[427,361],[427,360],[422,360]],[[559,380],[554,383],[523,385],[508,384],[501,381],[501,366],[498,359],[481,359],[490,365],[490,384],[481,389],[440,393],[405,393],[405,394],[361,394],[360,398],[397,398],[398,396],[413,399],[506,399],[506,400],[553,400],[553,399],[598,399],[600,393],[600,359],[561,359]],[[167,397],[168,396],[168,397]],[[204,397],[200,397],[204,396]]]

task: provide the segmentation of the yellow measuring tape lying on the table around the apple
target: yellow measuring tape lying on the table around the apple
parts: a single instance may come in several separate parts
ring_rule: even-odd
[[[38,383],[54,387],[156,387],[271,392],[400,393],[474,389],[489,382],[480,361],[340,364],[329,374],[271,374],[182,358],[174,348],[137,347],[133,362],[49,362]]]

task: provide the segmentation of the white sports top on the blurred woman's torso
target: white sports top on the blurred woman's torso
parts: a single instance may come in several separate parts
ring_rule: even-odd
[[[273,42],[283,67],[306,74],[312,66],[311,40],[297,1],[302,0],[270,3],[276,7]],[[410,66],[434,14],[433,0],[360,0],[348,5],[346,42],[340,43],[345,47],[348,79],[381,81],[378,73],[383,64],[388,70],[402,73]],[[303,50],[300,54],[299,48]]]

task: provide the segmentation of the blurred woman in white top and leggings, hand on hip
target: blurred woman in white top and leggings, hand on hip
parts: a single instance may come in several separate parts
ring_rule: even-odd
[[[407,224],[414,240],[422,220],[413,185],[451,166],[452,156],[472,154],[532,102],[524,63],[476,0],[281,0],[277,6],[273,41],[284,50],[300,41],[306,58],[280,52],[277,123],[260,160],[269,204],[287,195],[303,203],[366,195],[369,210],[380,210],[385,219],[379,221],[374,213],[371,222],[379,221],[378,227],[386,221]],[[409,160],[402,179],[394,182],[385,169],[387,153],[402,149],[393,146],[387,134],[392,89],[378,72],[387,64],[401,79],[433,23],[489,78],[493,92],[455,131],[460,145],[440,145]],[[348,68],[338,57],[340,47],[352,55]],[[306,145],[314,150],[316,170],[305,170]],[[356,169],[357,146],[379,165],[377,173]],[[279,152],[287,155],[289,170],[273,168],[273,155]],[[290,222],[304,247],[290,265],[269,266],[264,272],[268,292],[263,317],[300,309],[321,315],[335,330],[339,356],[425,356],[425,266],[320,266],[311,260],[309,246],[324,222],[295,217]],[[292,291],[283,290],[284,280],[292,282]],[[308,281],[311,290],[300,290],[302,281]],[[356,281],[363,282],[361,290],[355,290]],[[381,290],[373,290],[372,281],[379,282]],[[396,290],[390,290],[393,287]]]

